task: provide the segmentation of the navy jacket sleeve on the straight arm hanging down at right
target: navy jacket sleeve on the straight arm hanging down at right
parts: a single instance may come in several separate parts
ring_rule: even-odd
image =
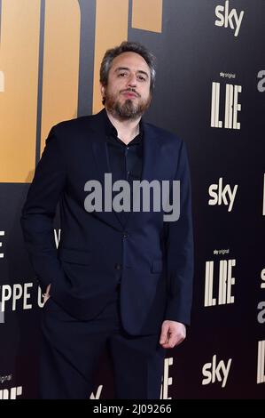
[[[175,181],[180,181],[180,216],[167,223],[168,303],[165,319],[191,322],[193,281],[193,232],[191,178],[184,142],[180,145]]]

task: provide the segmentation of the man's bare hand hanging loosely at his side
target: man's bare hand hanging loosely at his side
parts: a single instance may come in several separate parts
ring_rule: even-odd
[[[186,327],[181,322],[164,321],[161,327],[160,345],[163,349],[173,349],[186,338]]]

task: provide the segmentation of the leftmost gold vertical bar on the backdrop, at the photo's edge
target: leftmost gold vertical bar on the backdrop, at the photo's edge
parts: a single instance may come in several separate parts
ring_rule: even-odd
[[[35,169],[40,0],[2,0],[0,181],[29,182]]]

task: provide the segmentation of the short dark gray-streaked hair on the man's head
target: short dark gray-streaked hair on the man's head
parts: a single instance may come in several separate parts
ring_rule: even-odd
[[[121,55],[123,52],[136,52],[141,55],[146,64],[148,65],[151,73],[151,81],[150,81],[150,92],[153,91],[154,82],[155,82],[155,74],[156,74],[156,65],[155,65],[155,56],[150,52],[144,45],[139,44],[138,42],[127,42],[124,41],[119,46],[115,46],[112,49],[108,49],[105,52],[104,58],[101,62],[100,66],[100,83],[104,86],[107,85],[108,75],[110,68],[112,67],[112,63],[114,58]]]

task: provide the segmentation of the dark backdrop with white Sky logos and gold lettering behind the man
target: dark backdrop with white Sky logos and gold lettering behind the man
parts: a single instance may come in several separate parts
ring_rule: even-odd
[[[160,397],[265,398],[264,20],[263,0],[0,0],[0,399],[37,396],[43,297],[19,226],[35,165],[52,125],[101,109],[123,40],[157,56],[145,119],[191,164],[192,324]],[[105,352],[88,398],[112,397]]]

